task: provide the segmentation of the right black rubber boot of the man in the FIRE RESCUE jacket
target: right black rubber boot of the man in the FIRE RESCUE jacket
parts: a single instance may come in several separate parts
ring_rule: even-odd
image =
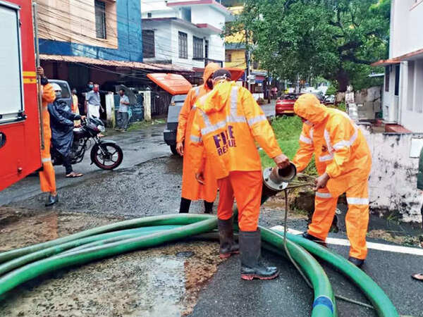
[[[260,251],[262,240],[260,230],[240,231],[240,252],[241,252],[241,278],[243,280],[272,280],[279,275],[278,268],[264,266],[261,261]]]

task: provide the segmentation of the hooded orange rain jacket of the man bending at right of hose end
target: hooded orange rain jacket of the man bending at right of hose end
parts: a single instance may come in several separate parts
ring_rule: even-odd
[[[328,173],[327,183],[333,197],[369,178],[372,154],[360,128],[338,109],[320,104],[313,94],[304,94],[294,111],[308,122],[302,125],[300,149],[293,163],[304,170],[314,153],[319,175]]]

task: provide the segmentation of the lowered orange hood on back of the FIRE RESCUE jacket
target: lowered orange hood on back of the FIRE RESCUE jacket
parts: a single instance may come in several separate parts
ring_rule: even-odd
[[[205,113],[220,111],[231,97],[231,89],[235,82],[221,82],[208,94],[200,98],[200,108]]]

